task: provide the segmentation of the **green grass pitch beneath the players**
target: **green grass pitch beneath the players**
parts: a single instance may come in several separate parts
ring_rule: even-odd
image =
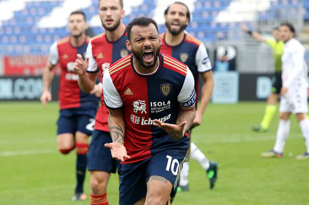
[[[214,190],[199,164],[190,161],[189,192],[177,194],[174,204],[308,204],[309,161],[297,161],[305,151],[295,117],[284,158],[262,159],[274,145],[277,115],[268,133],[252,133],[265,102],[236,105],[210,104],[193,142],[210,159],[220,163]],[[89,204],[72,202],[75,187],[75,151],[61,155],[56,145],[58,104],[44,108],[39,102],[0,103],[0,204]],[[293,153],[293,157],[289,156]],[[118,203],[118,179],[108,183],[110,205]]]

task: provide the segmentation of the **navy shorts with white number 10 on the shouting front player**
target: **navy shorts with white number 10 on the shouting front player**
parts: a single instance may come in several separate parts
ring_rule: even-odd
[[[146,182],[151,176],[164,177],[175,189],[179,183],[182,164],[187,159],[183,151],[181,153],[177,150],[169,150],[138,162],[121,164],[118,168],[119,205],[132,205],[145,197]]]

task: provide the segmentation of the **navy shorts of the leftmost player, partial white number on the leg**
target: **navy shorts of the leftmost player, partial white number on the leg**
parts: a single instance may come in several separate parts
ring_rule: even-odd
[[[96,109],[69,108],[59,112],[57,135],[76,131],[92,135]]]

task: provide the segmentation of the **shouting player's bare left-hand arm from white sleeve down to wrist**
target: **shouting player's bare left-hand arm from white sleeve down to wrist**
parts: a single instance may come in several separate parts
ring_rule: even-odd
[[[125,121],[123,110],[109,110],[108,128],[113,142],[124,143],[125,140]]]

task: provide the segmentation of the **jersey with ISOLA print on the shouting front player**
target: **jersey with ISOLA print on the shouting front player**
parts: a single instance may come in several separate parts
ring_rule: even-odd
[[[134,67],[133,55],[114,63],[104,73],[103,89],[108,109],[123,108],[124,146],[133,163],[165,150],[186,155],[189,139],[173,140],[166,131],[153,125],[154,119],[175,124],[179,107],[195,105],[194,78],[186,65],[165,54],[151,74]]]

